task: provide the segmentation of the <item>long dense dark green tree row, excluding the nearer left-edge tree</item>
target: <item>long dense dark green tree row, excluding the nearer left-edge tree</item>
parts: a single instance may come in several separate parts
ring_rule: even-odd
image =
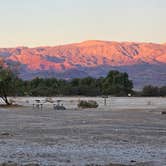
[[[19,83],[19,85],[18,85]],[[110,71],[104,78],[75,78],[58,80],[56,78],[35,78],[30,81],[19,80],[17,95],[56,96],[56,95],[120,95],[132,93],[133,84],[127,73]]]

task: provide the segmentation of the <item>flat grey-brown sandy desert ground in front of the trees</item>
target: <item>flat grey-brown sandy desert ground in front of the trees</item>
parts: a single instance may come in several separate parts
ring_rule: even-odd
[[[43,110],[33,109],[35,99],[15,98],[24,107],[0,109],[1,162],[166,166],[166,98],[109,98],[107,106],[86,98],[99,103],[91,110],[76,109],[82,98],[60,98],[65,111],[45,98]]]

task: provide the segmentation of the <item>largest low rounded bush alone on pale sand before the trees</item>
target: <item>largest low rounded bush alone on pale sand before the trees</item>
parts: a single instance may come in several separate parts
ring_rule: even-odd
[[[97,104],[97,102],[93,100],[89,100],[89,101],[81,100],[78,103],[78,107],[80,108],[97,108],[98,106],[99,105]]]

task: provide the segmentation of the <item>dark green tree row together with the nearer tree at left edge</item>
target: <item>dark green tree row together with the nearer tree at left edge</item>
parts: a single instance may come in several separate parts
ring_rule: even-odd
[[[128,74],[119,71],[110,71],[106,77],[98,79],[35,78],[25,81],[19,79],[9,68],[0,67],[0,96],[6,104],[10,104],[7,96],[126,96],[133,92],[132,88],[133,83]]]

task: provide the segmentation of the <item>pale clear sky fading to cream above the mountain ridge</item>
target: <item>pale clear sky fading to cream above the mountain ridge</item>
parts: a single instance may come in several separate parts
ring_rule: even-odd
[[[0,0],[0,47],[166,43],[166,0]]]

